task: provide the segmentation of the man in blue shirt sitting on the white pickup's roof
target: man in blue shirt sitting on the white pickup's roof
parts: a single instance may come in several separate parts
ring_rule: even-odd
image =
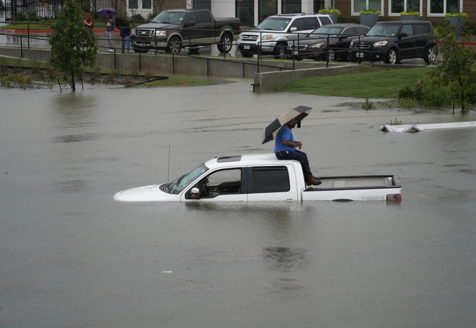
[[[291,121],[281,127],[276,135],[274,143],[274,153],[278,159],[295,159],[301,163],[302,173],[304,173],[304,180],[307,186],[318,186],[322,182],[319,178],[314,177],[309,168],[309,161],[305,152],[297,150],[296,147],[301,149],[302,142],[294,141],[293,133],[291,129],[296,126],[296,120],[293,118]]]

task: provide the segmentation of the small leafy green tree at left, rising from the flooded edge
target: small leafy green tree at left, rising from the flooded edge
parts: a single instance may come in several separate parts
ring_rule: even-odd
[[[96,64],[96,38],[84,27],[84,12],[75,0],[66,0],[51,27],[52,65],[71,76],[71,89],[76,90],[74,76],[82,75],[83,65]]]

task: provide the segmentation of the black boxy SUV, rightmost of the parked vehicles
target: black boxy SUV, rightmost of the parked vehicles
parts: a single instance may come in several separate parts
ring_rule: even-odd
[[[351,61],[382,61],[396,64],[401,59],[423,58],[425,62],[434,60],[433,47],[436,43],[428,40],[434,34],[430,21],[402,20],[378,22],[363,37],[351,42]]]

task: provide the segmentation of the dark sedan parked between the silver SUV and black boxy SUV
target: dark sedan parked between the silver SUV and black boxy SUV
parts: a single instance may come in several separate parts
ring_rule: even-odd
[[[361,24],[329,24],[312,31],[304,39],[294,40],[289,48],[298,58],[329,61],[347,59],[351,41],[370,30]],[[329,45],[327,41],[329,40]]]

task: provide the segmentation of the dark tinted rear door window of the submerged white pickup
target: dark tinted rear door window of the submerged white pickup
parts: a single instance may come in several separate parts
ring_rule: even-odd
[[[291,189],[286,166],[253,167],[252,192],[284,192]]]

